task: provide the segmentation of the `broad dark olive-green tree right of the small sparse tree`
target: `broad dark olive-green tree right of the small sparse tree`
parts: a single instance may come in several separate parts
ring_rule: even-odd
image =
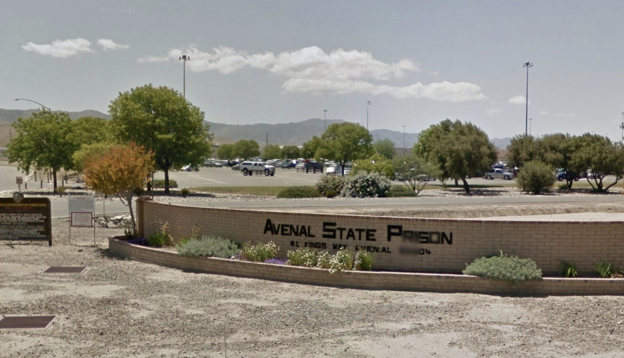
[[[421,133],[414,151],[424,156],[428,163],[442,170],[442,179],[455,179],[464,183],[470,193],[466,176],[485,172],[497,159],[496,148],[484,131],[472,123],[444,120]]]

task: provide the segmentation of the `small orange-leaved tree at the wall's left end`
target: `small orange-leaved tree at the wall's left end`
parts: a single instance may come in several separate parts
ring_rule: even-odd
[[[154,154],[130,143],[115,145],[103,153],[87,157],[83,172],[87,187],[105,195],[115,195],[128,206],[132,235],[136,235],[137,225],[132,212],[132,198],[137,189],[143,188],[152,170],[154,170]]]

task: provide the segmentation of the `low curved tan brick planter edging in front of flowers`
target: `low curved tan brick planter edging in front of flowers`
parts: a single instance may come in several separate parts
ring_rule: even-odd
[[[123,257],[181,270],[344,288],[520,295],[624,294],[624,279],[621,278],[545,278],[542,281],[512,285],[504,281],[465,275],[374,271],[343,271],[331,274],[328,270],[317,268],[222,258],[188,258],[181,257],[175,252],[131,245],[115,238],[109,239],[109,248]]]

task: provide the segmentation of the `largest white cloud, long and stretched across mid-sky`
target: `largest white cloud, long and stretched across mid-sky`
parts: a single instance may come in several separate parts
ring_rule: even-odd
[[[467,82],[434,82],[429,85],[415,83],[406,87],[378,85],[369,81],[390,81],[406,77],[407,73],[420,72],[411,60],[386,63],[377,60],[370,52],[358,50],[333,50],[326,53],[317,46],[281,52],[247,54],[230,47],[218,47],[213,52],[203,52],[195,45],[188,49],[170,50],[167,57],[147,56],[140,62],[178,59],[190,56],[188,68],[193,72],[217,70],[228,74],[245,67],[260,68],[285,78],[285,92],[319,94],[323,92],[369,93],[391,95],[396,98],[429,98],[438,101],[469,101],[485,99],[481,88]]]

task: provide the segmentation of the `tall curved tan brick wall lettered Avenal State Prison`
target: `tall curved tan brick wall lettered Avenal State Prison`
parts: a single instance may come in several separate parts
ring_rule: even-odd
[[[584,275],[594,275],[601,258],[615,267],[624,266],[624,222],[416,219],[215,209],[150,201],[142,206],[140,225],[148,235],[168,222],[174,240],[179,240],[190,235],[197,225],[200,235],[217,235],[240,243],[273,241],[280,247],[280,257],[285,257],[287,250],[310,243],[324,245],[329,252],[347,245],[373,250],[374,266],[383,270],[458,273],[466,268],[466,263],[496,255],[499,250],[532,258],[548,275],[558,272],[561,260],[575,262]],[[332,227],[336,228],[336,238],[323,237],[323,223],[327,222],[336,223]],[[305,233],[301,227],[305,227]],[[388,240],[389,227],[394,227],[393,233],[399,233],[401,227],[402,235]],[[346,228],[342,239],[337,228]],[[353,235],[348,237],[349,228]],[[369,239],[374,240],[366,240],[366,230]],[[295,232],[299,235],[293,235]],[[449,240],[443,240],[442,233]]]

